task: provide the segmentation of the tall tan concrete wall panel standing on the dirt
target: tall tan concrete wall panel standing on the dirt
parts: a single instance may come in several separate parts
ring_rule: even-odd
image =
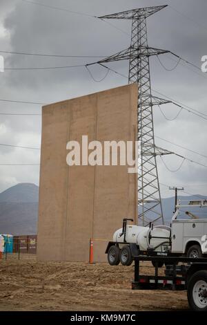
[[[43,106],[37,256],[41,261],[106,261],[107,241],[137,216],[137,174],[128,166],[71,166],[66,144],[136,140],[137,85]]]

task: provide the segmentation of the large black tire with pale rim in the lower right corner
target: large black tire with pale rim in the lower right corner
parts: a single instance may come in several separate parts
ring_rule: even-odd
[[[207,311],[207,271],[195,272],[188,282],[188,304],[195,311]]]

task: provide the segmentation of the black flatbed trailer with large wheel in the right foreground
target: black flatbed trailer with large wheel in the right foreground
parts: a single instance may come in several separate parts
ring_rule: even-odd
[[[187,290],[190,308],[207,311],[207,259],[140,255],[135,245],[131,250],[135,261],[132,290]],[[141,275],[140,261],[151,261],[155,266],[154,275]],[[159,263],[163,262],[165,275],[159,275]]]

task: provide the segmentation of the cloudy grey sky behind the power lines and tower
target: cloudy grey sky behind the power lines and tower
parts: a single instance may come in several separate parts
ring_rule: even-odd
[[[36,1],[36,0],[34,0]],[[38,0],[37,0],[38,2]],[[130,45],[131,22],[105,21],[92,16],[146,6],[168,7],[148,18],[149,46],[170,50],[201,66],[207,55],[207,23],[205,0],[39,0],[39,3],[72,10],[55,10],[23,0],[0,0],[0,50],[52,55],[84,55],[107,57]],[[122,32],[124,31],[124,32]],[[0,53],[5,68],[70,66],[97,61],[97,58],[37,57]],[[172,55],[161,55],[167,69],[175,66]],[[207,74],[190,64],[180,62],[166,71],[157,59],[150,58],[153,91],[207,114]],[[112,62],[110,68],[128,75],[128,61]],[[100,80],[106,70],[92,66],[91,73]],[[84,67],[53,70],[6,70],[0,73],[0,99],[48,104],[88,93],[115,88],[127,83],[116,73],[108,73],[102,82],[95,82]],[[153,93],[158,95],[157,93]],[[159,97],[164,97],[159,95]],[[186,156],[207,166],[206,120],[172,104],[154,106],[155,138],[158,147]],[[0,101],[0,192],[17,183],[39,185],[39,166],[2,166],[1,164],[39,164],[38,149],[21,149],[3,145],[39,148],[41,145],[41,115],[2,115],[2,113],[41,114],[41,104],[20,104]],[[166,118],[168,120],[166,120]],[[172,121],[170,121],[172,120]],[[3,144],[3,145],[1,145]],[[201,154],[194,154],[196,151]],[[206,157],[204,157],[206,156]],[[161,195],[172,196],[168,186],[184,187],[186,193],[207,195],[207,168],[170,155],[157,157]],[[176,171],[179,169],[178,171]]]

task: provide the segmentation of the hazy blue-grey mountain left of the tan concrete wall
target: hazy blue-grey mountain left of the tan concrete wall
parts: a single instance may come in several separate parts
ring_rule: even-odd
[[[20,183],[0,194],[0,233],[37,234],[39,187]]]

